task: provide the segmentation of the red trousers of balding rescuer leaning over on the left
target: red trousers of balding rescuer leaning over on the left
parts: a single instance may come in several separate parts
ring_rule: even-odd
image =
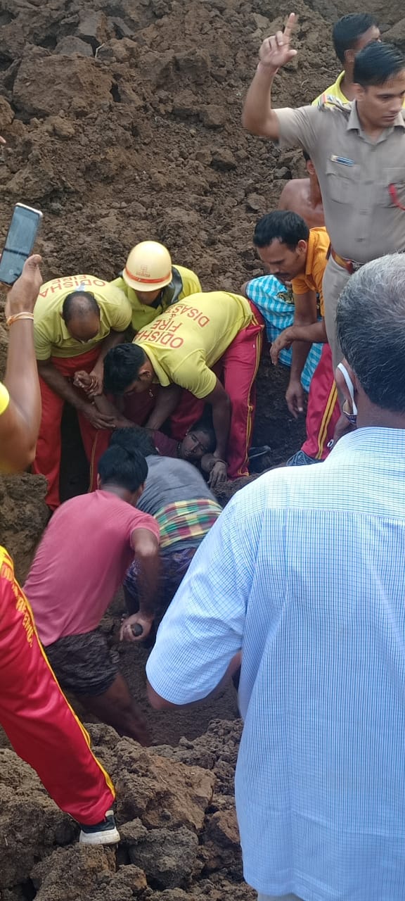
[[[55,369],[65,376],[73,378],[78,369],[91,372],[100,353],[99,348],[88,350],[80,357],[52,357],[51,362]],[[32,472],[45,476],[48,481],[48,494],[46,503],[51,510],[55,510],[60,504],[59,498],[59,470],[60,454],[62,451],[60,438],[60,423],[62,421],[65,401],[49,388],[49,385],[40,378],[40,398],[42,402],[42,416],[40,420],[40,434],[37,441],[37,452]],[[89,423],[83,414],[78,414],[78,423],[85,448],[87,460],[91,460],[94,445],[94,436],[97,429]],[[108,444],[107,444],[108,446]]]

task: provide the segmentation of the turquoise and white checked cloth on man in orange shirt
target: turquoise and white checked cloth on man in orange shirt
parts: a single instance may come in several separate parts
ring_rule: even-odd
[[[266,323],[266,335],[270,344],[278,335],[293,325],[294,302],[291,288],[283,285],[275,276],[259,276],[247,282],[246,294],[252,304],[262,314]],[[312,344],[302,369],[301,383],[305,391],[310,390],[311,378],[320,362],[322,344]],[[284,366],[291,366],[293,350],[280,351],[279,360]]]

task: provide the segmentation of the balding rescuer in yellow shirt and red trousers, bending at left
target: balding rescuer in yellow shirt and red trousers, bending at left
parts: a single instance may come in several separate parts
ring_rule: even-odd
[[[124,339],[130,304],[118,287],[94,276],[55,278],[41,287],[34,309],[34,343],[40,375],[42,416],[33,471],[48,481],[46,503],[58,507],[63,407],[76,408],[85,453],[91,460],[96,430],[115,424],[112,414],[97,409],[94,396],[103,390],[103,358]],[[86,396],[76,373],[90,374]],[[78,386],[78,387],[76,387]]]

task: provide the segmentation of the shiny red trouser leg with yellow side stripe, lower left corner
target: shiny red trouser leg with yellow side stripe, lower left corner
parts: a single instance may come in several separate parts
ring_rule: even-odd
[[[0,723],[61,810],[85,825],[103,820],[114,799],[112,781],[49,667],[13,560],[2,547]]]

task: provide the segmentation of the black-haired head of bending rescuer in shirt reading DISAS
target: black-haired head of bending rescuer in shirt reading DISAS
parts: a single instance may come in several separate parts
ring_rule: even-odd
[[[150,387],[155,370],[139,344],[118,344],[104,359],[104,391],[141,394]]]

